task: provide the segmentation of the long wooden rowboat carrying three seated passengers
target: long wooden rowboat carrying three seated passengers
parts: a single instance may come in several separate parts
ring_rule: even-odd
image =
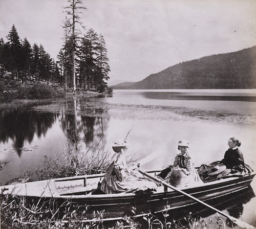
[[[148,174],[156,176],[161,170],[147,170]],[[201,201],[212,201],[215,198],[240,192],[250,186],[255,173],[242,177],[227,177],[217,181],[207,182],[200,186],[188,187],[182,191]],[[31,198],[55,198],[56,201],[69,200],[79,205],[81,210],[87,210],[88,220],[94,217],[94,211],[103,211],[105,220],[120,219],[123,216],[142,216],[150,213],[166,212],[180,209],[196,203],[191,198],[167,187],[159,186],[153,193],[135,194],[100,194],[89,193],[97,188],[104,174],[58,178],[24,184],[14,184],[0,187],[2,195],[26,196]]]

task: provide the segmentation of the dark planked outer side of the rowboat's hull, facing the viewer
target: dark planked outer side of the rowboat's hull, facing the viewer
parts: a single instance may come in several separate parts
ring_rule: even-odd
[[[207,202],[246,189],[250,186],[253,177],[254,175],[249,175],[239,179],[223,180],[202,187],[183,189],[183,191]],[[88,197],[78,195],[73,196],[71,201],[78,204],[80,209],[86,209],[89,219],[94,218],[94,212],[97,211],[103,212],[103,218],[118,219],[123,216],[138,217],[181,209],[197,203],[195,200],[172,190],[147,194],[91,195]]]

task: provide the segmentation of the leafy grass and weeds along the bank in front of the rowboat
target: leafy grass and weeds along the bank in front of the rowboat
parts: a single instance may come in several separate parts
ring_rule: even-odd
[[[181,221],[168,220],[169,215],[163,214],[161,219],[154,215],[134,219],[123,217],[112,222],[102,221],[103,212],[95,213],[95,221],[87,220],[86,211],[70,201],[61,205],[54,199],[39,199],[28,201],[23,197],[4,197],[1,203],[2,228],[92,228],[92,229],[123,229],[123,228],[175,228],[175,229],[225,229],[225,223],[220,217],[205,221],[203,218],[193,218],[191,215]]]

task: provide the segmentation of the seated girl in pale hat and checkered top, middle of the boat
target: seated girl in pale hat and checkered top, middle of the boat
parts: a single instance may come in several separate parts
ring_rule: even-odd
[[[165,177],[165,181],[176,188],[185,188],[187,186],[195,186],[203,181],[198,175],[194,163],[187,152],[188,142],[181,140],[178,143],[180,153],[176,155],[172,170]]]

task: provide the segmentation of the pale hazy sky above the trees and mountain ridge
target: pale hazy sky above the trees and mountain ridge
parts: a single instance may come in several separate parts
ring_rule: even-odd
[[[140,81],[182,61],[256,45],[254,0],[82,0],[86,30],[102,34],[109,84]],[[66,0],[0,0],[0,38],[15,25],[52,58],[63,44]]]

